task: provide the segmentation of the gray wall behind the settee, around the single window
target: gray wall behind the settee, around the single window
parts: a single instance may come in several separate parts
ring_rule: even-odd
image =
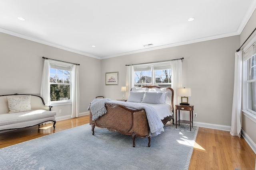
[[[0,33],[0,95],[40,95],[44,59],[47,57],[79,63],[80,113],[86,112],[90,102],[100,92],[100,60],[48,45]],[[62,109],[62,113],[59,113]],[[71,115],[71,105],[54,106],[57,117]]]

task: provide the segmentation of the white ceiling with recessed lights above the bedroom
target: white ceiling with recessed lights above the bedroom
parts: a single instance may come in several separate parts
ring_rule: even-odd
[[[256,0],[1,0],[0,32],[106,59],[239,35],[255,8]]]

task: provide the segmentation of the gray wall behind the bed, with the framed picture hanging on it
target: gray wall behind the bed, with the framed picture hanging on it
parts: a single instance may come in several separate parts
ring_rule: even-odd
[[[204,41],[143,53],[104,59],[101,61],[102,94],[112,100],[121,99],[121,86],[126,82],[125,64],[163,61],[184,57],[182,85],[190,87],[190,104],[197,121],[230,126],[234,87],[234,55],[240,36]],[[106,72],[119,72],[119,85],[106,86]],[[188,114],[184,115],[189,119]]]

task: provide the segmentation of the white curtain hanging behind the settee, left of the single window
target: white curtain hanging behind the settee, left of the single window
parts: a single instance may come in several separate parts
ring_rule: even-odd
[[[50,105],[50,64],[48,59],[44,59],[44,69],[41,83],[40,96],[44,99],[45,104]]]

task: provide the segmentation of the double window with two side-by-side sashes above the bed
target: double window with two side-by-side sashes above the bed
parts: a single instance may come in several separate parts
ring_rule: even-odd
[[[160,63],[151,65],[136,65],[134,66],[134,87],[142,86],[160,86],[170,87],[171,81],[171,64]]]

